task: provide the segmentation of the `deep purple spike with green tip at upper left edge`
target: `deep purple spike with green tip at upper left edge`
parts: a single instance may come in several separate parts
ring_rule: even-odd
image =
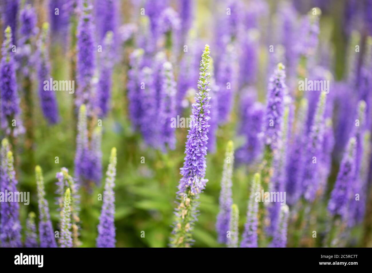
[[[8,136],[23,133],[17,93],[16,70],[12,43],[12,29],[5,29],[0,62],[1,128]],[[12,141],[10,139],[10,141]]]

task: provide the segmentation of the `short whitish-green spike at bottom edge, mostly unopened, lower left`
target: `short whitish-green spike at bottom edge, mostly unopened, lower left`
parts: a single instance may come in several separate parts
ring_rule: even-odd
[[[60,222],[60,247],[73,247],[71,232],[71,192],[70,188],[66,189],[63,197],[63,208]]]

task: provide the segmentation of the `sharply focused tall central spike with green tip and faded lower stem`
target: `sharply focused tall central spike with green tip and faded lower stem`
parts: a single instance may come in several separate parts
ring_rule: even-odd
[[[172,247],[190,247],[193,242],[192,230],[196,221],[196,199],[205,188],[207,179],[205,176],[208,143],[208,120],[209,120],[209,45],[205,45],[202,60],[200,61],[200,72],[198,89],[195,95],[195,103],[192,105],[193,124],[187,135],[185,162],[181,168],[182,178],[178,186],[177,195],[180,203],[176,208],[176,221],[170,238]]]

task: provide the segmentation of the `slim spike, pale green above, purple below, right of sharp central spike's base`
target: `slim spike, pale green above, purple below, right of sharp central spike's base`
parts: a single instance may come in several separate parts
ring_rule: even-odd
[[[219,193],[219,213],[217,215],[216,230],[218,242],[227,244],[227,231],[230,230],[230,212],[232,205],[232,169],[234,166],[234,144],[227,143],[224,170],[221,179],[221,192]]]

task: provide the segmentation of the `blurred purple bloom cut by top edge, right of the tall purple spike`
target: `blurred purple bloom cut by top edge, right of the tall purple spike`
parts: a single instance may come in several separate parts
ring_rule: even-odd
[[[119,3],[117,0],[96,0],[96,22],[99,40],[105,38],[108,31],[116,34]]]

